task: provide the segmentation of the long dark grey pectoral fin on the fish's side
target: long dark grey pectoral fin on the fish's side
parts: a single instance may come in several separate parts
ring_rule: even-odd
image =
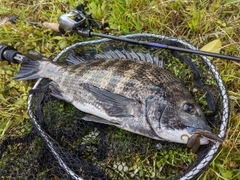
[[[98,106],[102,107],[108,116],[133,116],[131,109],[138,103],[137,101],[89,84],[81,84],[81,86],[89,91],[89,93],[92,93],[96,98]]]

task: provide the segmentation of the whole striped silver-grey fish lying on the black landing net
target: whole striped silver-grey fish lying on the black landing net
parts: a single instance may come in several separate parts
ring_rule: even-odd
[[[194,150],[211,139],[221,141],[182,80],[158,59],[127,51],[90,60],[72,55],[67,59],[70,65],[26,58],[14,79],[50,79],[52,95],[85,112],[85,121],[188,144]]]

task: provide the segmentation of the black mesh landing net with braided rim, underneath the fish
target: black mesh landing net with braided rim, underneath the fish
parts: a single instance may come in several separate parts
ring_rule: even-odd
[[[180,39],[160,35],[126,37],[195,49]],[[214,133],[225,136],[226,90],[215,67],[204,56],[100,39],[74,44],[54,61],[69,64],[69,56],[95,59],[101,53],[111,56],[111,51],[123,49],[135,58],[137,52],[157,54],[159,65],[164,64],[165,69],[184,81]],[[220,148],[210,143],[193,153],[186,145],[84,121],[83,112],[51,95],[48,83],[48,79],[39,79],[30,91],[32,131],[1,144],[1,179],[196,179]]]

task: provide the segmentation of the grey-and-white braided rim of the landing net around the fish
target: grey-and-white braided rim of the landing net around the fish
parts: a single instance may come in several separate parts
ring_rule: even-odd
[[[193,49],[193,50],[197,50],[196,47],[194,47],[193,45],[187,43],[186,41],[182,40],[182,39],[178,39],[178,38],[172,38],[172,37],[167,37],[167,36],[162,36],[162,35],[156,35],[156,34],[130,34],[130,35],[126,35],[126,36],[121,36],[121,37],[126,37],[126,38],[156,38],[156,39],[166,39],[166,40],[170,40],[173,42],[178,42],[184,46],[186,46],[189,49]],[[83,42],[78,42],[75,43],[67,48],[65,48],[63,51],[61,51],[54,59],[54,62],[57,62],[60,57],[76,48],[79,46],[84,46],[84,45],[90,45],[90,44],[98,44],[98,43],[103,43],[103,42],[107,42],[107,41],[113,41],[111,39],[100,39],[100,40],[91,40],[91,41],[83,41]],[[199,55],[203,61],[207,64],[207,66],[209,67],[209,69],[211,70],[212,74],[214,75],[214,78],[220,88],[221,91],[221,96],[222,96],[222,104],[223,104],[223,112],[222,112],[222,121],[221,121],[221,125],[219,128],[219,134],[218,136],[220,138],[224,138],[226,135],[226,131],[227,131],[227,124],[228,124],[228,119],[229,119],[229,104],[228,104],[228,97],[227,97],[227,91],[226,88],[223,84],[223,80],[221,78],[221,76],[219,75],[218,71],[216,70],[215,66],[211,63],[211,61],[206,57],[206,56],[202,56]],[[35,83],[35,85],[33,86],[33,89],[36,89],[39,84],[41,83],[42,79],[38,79],[38,81]],[[75,174],[66,164],[65,162],[60,158],[59,154],[55,151],[54,149],[54,143],[51,140],[51,137],[49,137],[49,135],[43,131],[42,127],[40,126],[40,124],[37,121],[37,118],[34,115],[34,112],[32,110],[32,98],[33,95],[30,94],[29,95],[29,99],[28,99],[28,112],[29,112],[29,116],[33,121],[33,125],[35,126],[35,128],[38,130],[40,136],[44,139],[44,141],[46,142],[48,148],[50,149],[51,153],[54,155],[54,157],[57,159],[59,165],[67,172],[68,175],[70,175],[73,179],[78,179],[81,180],[83,179],[82,177],[79,177],[77,174]],[[193,179],[194,177],[196,177],[197,175],[199,175],[202,171],[202,169],[206,168],[209,163],[214,159],[214,157],[217,155],[218,151],[220,149],[220,145],[214,144],[212,145],[212,147],[210,148],[210,150],[208,151],[208,153],[206,154],[206,156],[196,165],[194,166],[194,168],[191,169],[191,171],[189,171],[188,173],[184,174],[183,176],[181,176],[179,179],[183,180],[183,179]]]

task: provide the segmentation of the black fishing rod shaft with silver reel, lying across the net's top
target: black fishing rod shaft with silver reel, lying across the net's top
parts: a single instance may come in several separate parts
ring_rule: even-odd
[[[114,40],[118,40],[118,41],[129,42],[132,44],[156,47],[156,48],[161,48],[161,49],[176,50],[176,51],[181,51],[181,52],[186,52],[186,53],[195,53],[195,54],[199,54],[199,55],[212,56],[212,57],[217,57],[217,58],[221,58],[221,59],[227,59],[227,60],[233,60],[233,61],[240,62],[240,58],[235,57],[235,56],[227,56],[227,55],[217,54],[217,53],[212,53],[212,52],[207,52],[207,51],[193,50],[193,49],[181,48],[181,47],[176,47],[176,46],[170,46],[170,45],[166,45],[166,44],[147,42],[147,41],[139,41],[139,40],[129,39],[129,38],[125,38],[125,37],[111,36],[111,35],[107,35],[107,34],[100,34],[100,33],[93,32],[89,28],[90,26],[97,27],[98,29],[103,29],[104,26],[99,24],[96,20],[94,20],[92,18],[91,14],[88,15],[85,13],[84,6],[82,4],[77,6],[75,9],[67,12],[66,14],[59,16],[58,23],[60,25],[60,29],[75,32],[81,36],[86,36],[86,37],[98,36],[98,37],[102,37],[102,38],[108,38],[108,39],[114,39]]]

